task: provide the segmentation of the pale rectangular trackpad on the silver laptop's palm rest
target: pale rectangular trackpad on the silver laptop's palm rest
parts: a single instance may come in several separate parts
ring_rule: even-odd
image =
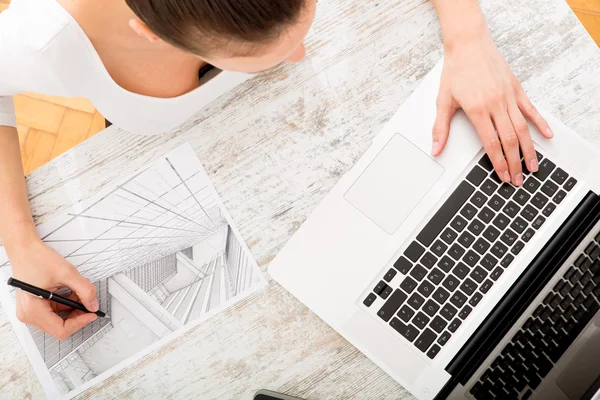
[[[345,199],[391,235],[443,173],[444,167],[395,134]]]

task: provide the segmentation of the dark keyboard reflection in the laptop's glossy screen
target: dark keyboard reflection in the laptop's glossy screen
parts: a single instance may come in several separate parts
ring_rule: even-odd
[[[527,399],[600,309],[600,234],[473,385],[478,400]]]

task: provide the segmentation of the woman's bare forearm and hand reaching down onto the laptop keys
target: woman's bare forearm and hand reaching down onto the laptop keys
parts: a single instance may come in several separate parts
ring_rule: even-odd
[[[523,184],[519,148],[529,171],[537,171],[529,118],[553,136],[508,63],[496,48],[477,0],[433,0],[444,40],[444,69],[433,127],[432,154],[441,153],[450,121],[462,108],[479,134],[500,179]]]

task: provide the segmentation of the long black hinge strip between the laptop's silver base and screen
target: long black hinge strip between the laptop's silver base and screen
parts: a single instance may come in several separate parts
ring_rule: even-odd
[[[589,192],[446,367],[452,378],[435,397],[465,385],[525,309],[600,220],[600,197]]]

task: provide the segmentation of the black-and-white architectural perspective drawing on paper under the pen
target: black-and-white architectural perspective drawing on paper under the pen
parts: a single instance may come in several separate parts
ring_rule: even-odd
[[[71,397],[261,287],[264,278],[236,232],[189,145],[38,226],[96,286],[110,316],[64,341],[28,327],[57,392]],[[0,272],[10,275],[1,256]]]

